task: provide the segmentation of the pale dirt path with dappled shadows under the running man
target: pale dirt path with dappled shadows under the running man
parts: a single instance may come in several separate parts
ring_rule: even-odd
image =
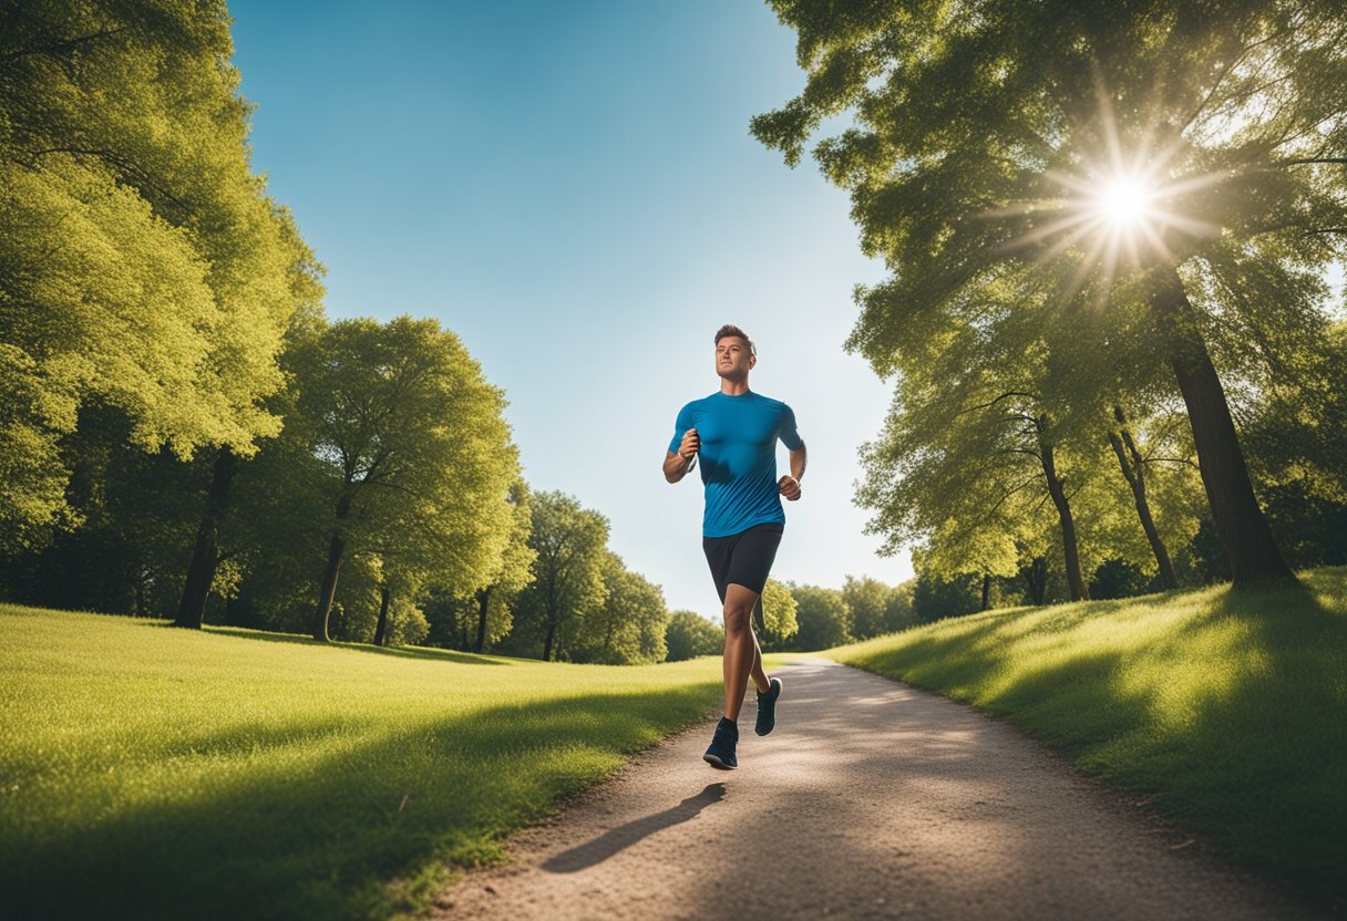
[[[1288,897],[997,723],[823,660],[777,672],[776,732],[643,754],[442,918],[1300,918]],[[752,692],[750,692],[752,699]]]

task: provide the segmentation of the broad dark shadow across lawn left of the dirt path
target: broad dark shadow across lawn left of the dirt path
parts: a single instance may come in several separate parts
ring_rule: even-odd
[[[505,833],[618,766],[618,753],[700,718],[717,691],[497,707],[362,732],[337,753],[302,741],[136,808],[5,823],[4,914],[326,920],[415,908],[445,862],[496,856]]]

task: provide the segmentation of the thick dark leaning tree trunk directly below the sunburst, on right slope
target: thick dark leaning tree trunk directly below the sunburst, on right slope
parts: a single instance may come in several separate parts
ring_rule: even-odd
[[[1150,298],[1150,307],[1169,341],[1169,366],[1188,408],[1202,485],[1207,490],[1216,536],[1230,560],[1234,586],[1293,579],[1258,508],[1226,392],[1176,269],[1168,269],[1161,288]]]

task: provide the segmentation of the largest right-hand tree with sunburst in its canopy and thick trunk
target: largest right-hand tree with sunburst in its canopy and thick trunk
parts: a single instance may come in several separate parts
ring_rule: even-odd
[[[1317,272],[1347,226],[1339,5],[770,5],[797,30],[810,78],[753,131],[795,164],[824,117],[854,116],[815,155],[893,272],[858,292],[850,346],[881,373],[905,370],[1013,273],[1091,331],[1078,353],[1149,327],[1235,584],[1289,576],[1212,349],[1238,377],[1323,327]],[[1123,217],[1129,194],[1140,218]]]

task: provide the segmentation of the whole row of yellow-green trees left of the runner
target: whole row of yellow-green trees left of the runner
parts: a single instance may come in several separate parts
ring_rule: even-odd
[[[458,338],[323,315],[230,55],[221,0],[0,9],[0,594],[663,660],[660,590],[531,493]]]

